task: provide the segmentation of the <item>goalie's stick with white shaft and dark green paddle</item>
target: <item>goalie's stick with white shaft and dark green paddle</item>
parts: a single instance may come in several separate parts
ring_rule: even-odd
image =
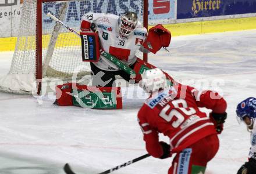
[[[73,32],[74,34],[76,34],[78,37],[80,37],[80,34],[74,30],[73,28],[70,28],[69,26],[67,26],[66,24],[64,24],[61,20],[59,20],[58,18],[56,18],[54,15],[52,15],[50,12],[47,13],[48,17],[51,17],[54,21],[56,21],[56,23],[61,24],[63,27],[67,28],[67,30]],[[115,56],[110,55],[109,53],[106,53],[104,50],[101,50],[101,55],[104,56],[106,59],[108,59],[109,61],[111,61],[113,64],[115,64],[116,66],[118,66],[121,70],[125,71],[127,74],[133,75],[133,77],[135,78],[136,73],[133,69],[131,69],[129,66],[127,66],[126,64],[124,64],[122,61],[118,60]]]

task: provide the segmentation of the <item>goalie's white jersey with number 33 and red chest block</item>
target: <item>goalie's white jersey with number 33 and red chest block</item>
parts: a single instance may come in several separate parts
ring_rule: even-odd
[[[82,17],[83,20],[95,24],[94,29],[98,32],[101,48],[105,52],[122,60],[127,65],[136,62],[136,51],[140,49],[147,37],[147,29],[139,21],[128,37],[120,37],[119,16],[115,14],[86,13]],[[101,70],[119,70],[115,64],[106,60],[103,56],[100,56],[99,61],[94,62],[94,65]]]

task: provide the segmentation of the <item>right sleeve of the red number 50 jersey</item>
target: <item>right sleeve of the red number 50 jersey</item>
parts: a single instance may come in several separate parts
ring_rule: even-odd
[[[227,108],[226,100],[217,92],[211,90],[199,91],[190,87],[192,95],[195,97],[198,107],[206,107],[212,110],[212,113],[225,113]]]

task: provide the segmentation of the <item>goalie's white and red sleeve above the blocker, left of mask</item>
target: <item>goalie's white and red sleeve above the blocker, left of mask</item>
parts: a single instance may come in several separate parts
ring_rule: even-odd
[[[81,31],[92,31],[95,28],[95,21],[99,17],[105,16],[105,13],[86,13],[81,17]]]

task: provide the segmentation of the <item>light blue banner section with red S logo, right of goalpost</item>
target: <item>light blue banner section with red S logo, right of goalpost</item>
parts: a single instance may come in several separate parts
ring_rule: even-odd
[[[148,20],[175,19],[176,0],[148,0]]]

